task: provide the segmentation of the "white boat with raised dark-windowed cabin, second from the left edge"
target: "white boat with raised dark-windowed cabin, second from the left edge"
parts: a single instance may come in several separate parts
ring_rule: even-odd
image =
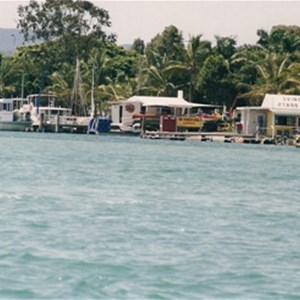
[[[32,131],[86,133],[86,122],[72,113],[71,108],[56,106],[57,97],[53,94],[31,94],[24,105],[30,112]]]

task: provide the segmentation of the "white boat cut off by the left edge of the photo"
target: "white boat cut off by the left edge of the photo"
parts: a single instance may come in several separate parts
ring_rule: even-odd
[[[31,127],[30,112],[24,110],[24,98],[0,99],[0,131],[28,131]]]

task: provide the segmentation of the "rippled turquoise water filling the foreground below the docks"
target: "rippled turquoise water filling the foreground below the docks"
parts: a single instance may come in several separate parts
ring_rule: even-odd
[[[299,149],[0,133],[1,299],[300,299]]]

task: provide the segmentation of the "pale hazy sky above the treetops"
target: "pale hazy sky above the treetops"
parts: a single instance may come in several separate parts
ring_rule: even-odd
[[[238,45],[255,44],[257,30],[270,32],[275,25],[300,26],[300,1],[94,1],[109,12],[117,43],[145,43],[170,25],[181,31],[184,40],[202,35],[233,37]],[[16,28],[18,5],[28,1],[0,0],[0,28]]]

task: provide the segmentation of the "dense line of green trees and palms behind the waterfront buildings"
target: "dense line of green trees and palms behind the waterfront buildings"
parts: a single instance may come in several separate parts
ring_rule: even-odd
[[[256,44],[237,46],[234,37],[215,36],[212,43],[201,34],[186,43],[170,25],[149,43],[137,38],[125,49],[106,33],[109,13],[89,1],[30,0],[18,14],[25,41],[36,43],[0,56],[0,97],[51,92],[69,106],[76,60],[84,101],[93,88],[98,112],[107,101],[176,96],[179,89],[189,101],[228,108],[235,98],[238,105],[260,105],[266,93],[300,92],[298,26],[258,30]]]

